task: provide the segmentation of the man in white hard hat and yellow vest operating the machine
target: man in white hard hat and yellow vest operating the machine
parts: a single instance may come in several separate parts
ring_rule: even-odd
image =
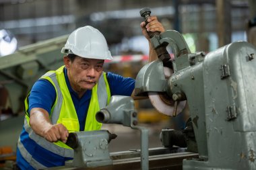
[[[156,17],[141,23],[148,31],[164,32]],[[65,165],[73,150],[65,144],[69,132],[100,130],[95,114],[111,95],[133,95],[135,80],[104,73],[104,60],[112,59],[104,36],[95,28],[78,28],[69,35],[64,66],[43,75],[25,100],[24,128],[18,140],[20,169],[44,169]],[[150,44],[150,61],[156,59]]]

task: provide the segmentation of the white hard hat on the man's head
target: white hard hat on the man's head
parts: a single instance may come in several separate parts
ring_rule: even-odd
[[[84,58],[113,59],[103,34],[92,26],[77,28],[77,30],[73,31],[61,52],[75,54]]]

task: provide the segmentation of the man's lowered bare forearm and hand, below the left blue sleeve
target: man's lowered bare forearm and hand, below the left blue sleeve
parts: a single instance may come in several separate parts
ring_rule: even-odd
[[[36,134],[49,142],[67,141],[69,132],[63,124],[51,124],[49,113],[42,108],[32,108],[30,111],[30,127]]]

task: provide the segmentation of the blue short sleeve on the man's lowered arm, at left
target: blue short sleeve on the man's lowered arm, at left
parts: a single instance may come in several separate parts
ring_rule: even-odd
[[[56,91],[55,87],[46,79],[39,79],[34,83],[30,96],[28,97],[29,109],[32,108],[43,108],[49,114],[51,113],[51,108],[55,103]]]

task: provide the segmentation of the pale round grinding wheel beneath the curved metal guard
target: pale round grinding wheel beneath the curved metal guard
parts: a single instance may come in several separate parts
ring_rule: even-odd
[[[172,75],[172,70],[168,67],[164,67],[164,76],[168,79]],[[167,116],[174,115],[174,100],[166,93],[148,92],[150,102],[156,108],[156,110]],[[185,108],[186,101],[179,101],[177,105],[177,114],[181,113]]]

